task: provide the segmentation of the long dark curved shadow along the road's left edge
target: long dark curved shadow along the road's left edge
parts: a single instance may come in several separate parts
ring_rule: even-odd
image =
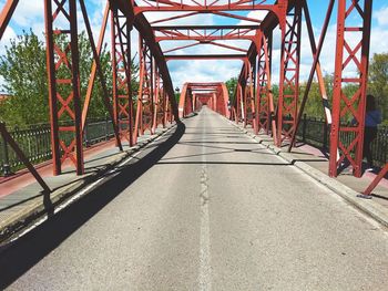
[[[93,189],[85,197],[69,206],[34,230],[18,239],[0,252],[0,290],[37,264],[83,224],[119,196],[126,187],[155,165],[185,133],[185,125],[178,123],[174,133],[162,137],[157,147],[143,149],[142,158],[132,159],[127,166],[118,169],[112,177]],[[139,157],[140,157],[139,156]],[[85,246],[80,246],[83,248]]]

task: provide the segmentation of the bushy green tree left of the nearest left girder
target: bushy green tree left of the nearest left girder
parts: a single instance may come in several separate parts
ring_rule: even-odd
[[[11,125],[48,122],[48,82],[43,43],[30,31],[0,56],[3,91],[12,96],[0,106],[0,118]]]

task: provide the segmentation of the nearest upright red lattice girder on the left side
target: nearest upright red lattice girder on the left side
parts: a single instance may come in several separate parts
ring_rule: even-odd
[[[44,6],[53,172],[61,174],[63,163],[70,159],[82,175],[76,1],[44,0]]]

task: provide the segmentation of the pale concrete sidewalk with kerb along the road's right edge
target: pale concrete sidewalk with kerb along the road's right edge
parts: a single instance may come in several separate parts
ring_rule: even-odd
[[[270,136],[264,133],[255,135],[251,126],[244,128],[242,123],[231,123],[259,144],[275,152],[286,162],[292,163],[327,188],[337,193],[345,200],[388,227],[388,180],[382,179],[380,181],[372,191],[371,199],[358,197],[370,185],[378,173],[365,172],[363,177],[356,178],[353,176],[353,170],[349,167],[344,169],[336,178],[330,178],[328,177],[328,156],[318,148],[298,143],[292,153],[287,153],[288,146],[276,147]]]

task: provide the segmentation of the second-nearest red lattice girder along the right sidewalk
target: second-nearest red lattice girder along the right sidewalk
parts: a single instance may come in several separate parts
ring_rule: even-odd
[[[277,146],[282,146],[283,141],[292,137],[297,118],[302,37],[302,6],[299,1],[292,10],[280,14],[279,23],[282,55],[277,106]]]

